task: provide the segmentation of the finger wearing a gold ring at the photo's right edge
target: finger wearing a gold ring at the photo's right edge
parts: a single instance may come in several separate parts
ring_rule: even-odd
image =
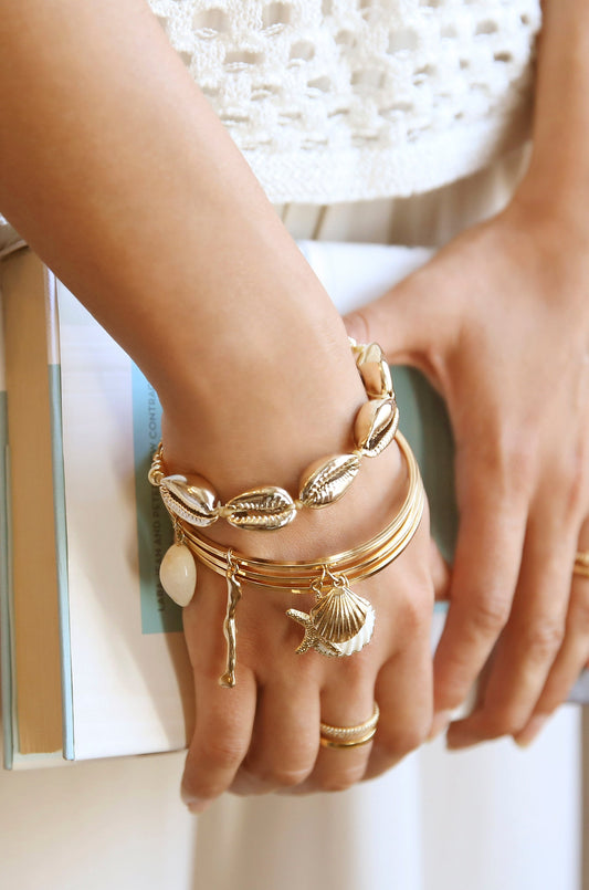
[[[579,538],[579,548],[586,549],[589,525]],[[528,745],[538,735],[548,718],[567,700],[572,685],[587,663],[589,653],[589,577],[572,574],[570,601],[567,614],[565,642],[558,652],[543,693],[527,725],[515,735],[518,745]]]

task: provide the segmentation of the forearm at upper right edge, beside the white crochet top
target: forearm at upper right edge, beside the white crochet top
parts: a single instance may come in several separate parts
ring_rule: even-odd
[[[538,46],[534,148],[519,190],[533,211],[587,227],[589,6],[545,0]]]

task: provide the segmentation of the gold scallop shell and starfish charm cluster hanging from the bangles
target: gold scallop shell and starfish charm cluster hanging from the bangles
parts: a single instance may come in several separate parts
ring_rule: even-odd
[[[317,594],[308,615],[298,609],[286,612],[305,629],[298,653],[315,649],[324,656],[351,656],[372,637],[375,610],[370,603],[350,590],[345,576],[328,575],[330,584]]]

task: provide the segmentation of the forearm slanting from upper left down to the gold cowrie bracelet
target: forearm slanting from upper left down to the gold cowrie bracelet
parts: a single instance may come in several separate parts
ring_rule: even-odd
[[[0,206],[138,362],[199,469],[223,459],[234,493],[238,451],[288,484],[343,448],[362,395],[339,318],[143,0],[2,0],[0,29]]]

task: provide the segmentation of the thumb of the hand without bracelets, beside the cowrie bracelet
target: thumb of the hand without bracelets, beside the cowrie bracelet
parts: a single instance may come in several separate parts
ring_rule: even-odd
[[[428,263],[382,296],[350,312],[344,317],[349,336],[360,343],[376,341],[393,365],[425,369],[425,354],[440,345],[443,299],[437,294],[437,278],[434,263]]]

